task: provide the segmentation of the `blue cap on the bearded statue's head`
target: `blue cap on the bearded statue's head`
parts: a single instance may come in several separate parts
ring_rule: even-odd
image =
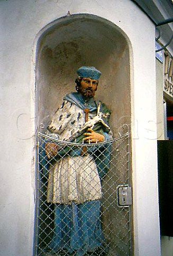
[[[79,69],[77,69],[77,74],[80,77],[89,77],[91,79],[96,79],[98,80],[101,76],[101,72],[99,70],[97,70],[94,67],[80,67]]]

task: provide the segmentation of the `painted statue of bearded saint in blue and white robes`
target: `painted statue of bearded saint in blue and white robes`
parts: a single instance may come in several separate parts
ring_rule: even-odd
[[[98,142],[111,139],[110,111],[95,99],[101,72],[81,67],[77,74],[76,92],[65,95],[47,129],[52,140],[44,145],[47,161],[53,159],[47,202],[55,205],[54,235],[48,247],[58,255],[107,255],[100,199],[101,179],[109,167],[110,143]],[[86,146],[68,147],[68,154],[64,154],[54,138]]]

